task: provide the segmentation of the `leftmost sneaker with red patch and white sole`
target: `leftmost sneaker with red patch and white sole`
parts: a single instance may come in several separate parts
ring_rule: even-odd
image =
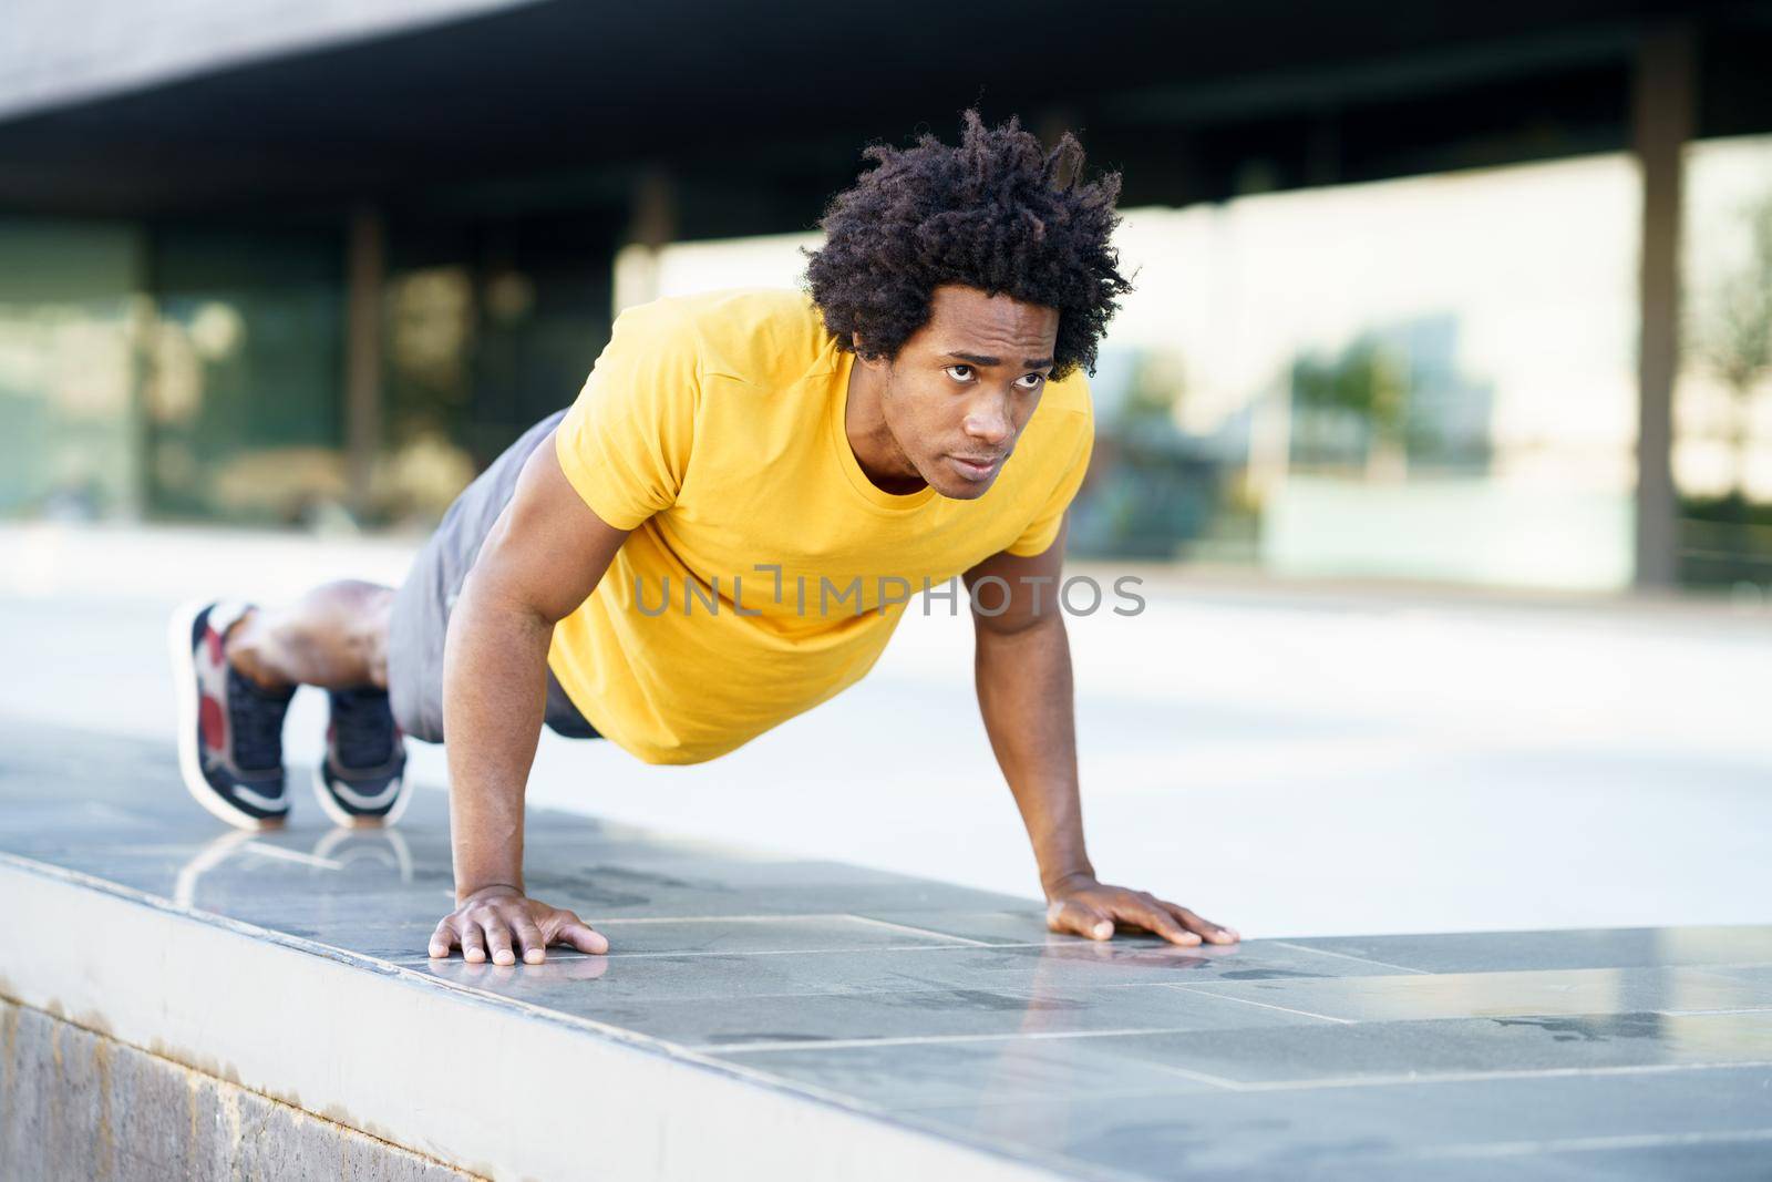
[[[179,698],[179,773],[211,813],[241,829],[289,817],[284,792],[284,714],[294,688],[260,689],[222,654],[248,604],[198,603],[172,613],[167,640]]]

